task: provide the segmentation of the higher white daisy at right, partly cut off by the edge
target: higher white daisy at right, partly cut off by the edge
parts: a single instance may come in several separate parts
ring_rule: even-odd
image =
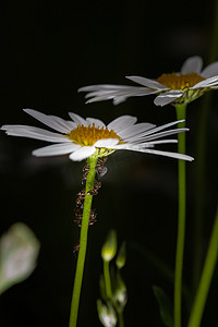
[[[78,92],[88,92],[85,96],[89,98],[87,102],[113,99],[113,104],[118,105],[132,96],[157,94],[156,106],[189,104],[218,87],[218,61],[204,70],[202,66],[202,58],[195,56],[185,60],[179,73],[162,74],[157,80],[126,76],[143,86],[99,84],[81,87]]]

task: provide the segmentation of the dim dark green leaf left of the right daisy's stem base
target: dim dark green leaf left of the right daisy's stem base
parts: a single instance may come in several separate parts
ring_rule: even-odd
[[[160,317],[167,327],[173,327],[173,311],[170,299],[162,289],[157,286],[153,287],[153,291],[159,304]]]

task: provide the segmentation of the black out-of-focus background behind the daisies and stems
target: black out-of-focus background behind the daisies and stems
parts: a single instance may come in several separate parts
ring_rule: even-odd
[[[125,75],[158,77],[179,71],[191,56],[209,58],[214,3],[207,1],[9,1],[1,11],[0,124],[43,126],[23,108],[64,119],[68,111],[109,123],[121,114],[156,124],[175,120],[173,107],[155,107],[154,97],[85,105],[77,88],[88,84],[131,84]],[[217,201],[217,100],[208,107],[206,185],[203,208],[206,251]],[[187,108],[187,154],[195,156],[202,98]],[[23,283],[0,299],[0,326],[68,326],[78,228],[73,222],[76,193],[85,162],[68,156],[35,158],[45,143],[1,133],[1,233],[12,223],[27,223],[41,243],[38,266]],[[166,146],[177,150],[177,147]],[[187,223],[184,281],[193,282],[196,168],[187,164]],[[117,230],[119,244],[128,241],[123,269],[129,293],[126,326],[164,326],[153,293],[161,287],[173,299],[173,283],[142,251],[148,250],[172,269],[177,240],[177,160],[121,152],[109,157],[108,173],[94,198],[97,223],[89,230],[80,306],[80,326],[100,326],[96,313],[100,249],[108,231]],[[140,247],[138,247],[140,246]],[[140,250],[138,250],[140,249]],[[215,272],[217,276],[217,271]],[[213,281],[204,326],[217,326],[217,278]],[[184,305],[183,322],[189,307]]]

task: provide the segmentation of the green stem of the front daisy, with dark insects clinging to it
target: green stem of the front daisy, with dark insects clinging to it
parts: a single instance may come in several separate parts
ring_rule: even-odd
[[[69,327],[76,327],[76,322],[77,322],[78,303],[80,303],[85,255],[86,255],[86,247],[87,247],[89,214],[90,214],[92,201],[93,201],[93,195],[87,194],[87,192],[94,187],[96,164],[97,164],[96,157],[87,158],[89,172],[87,175],[86,187],[85,187],[85,199],[84,199],[83,219],[82,219],[81,237],[80,237],[80,250],[78,250],[78,257],[77,257],[74,287],[73,287],[73,295],[71,302],[71,314],[70,314]]]

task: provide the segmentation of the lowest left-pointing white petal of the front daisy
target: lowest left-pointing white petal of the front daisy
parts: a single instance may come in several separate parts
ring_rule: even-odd
[[[66,155],[73,153],[80,147],[81,147],[80,145],[73,143],[52,144],[49,146],[35,149],[32,154],[36,157],[59,156],[59,155]]]

